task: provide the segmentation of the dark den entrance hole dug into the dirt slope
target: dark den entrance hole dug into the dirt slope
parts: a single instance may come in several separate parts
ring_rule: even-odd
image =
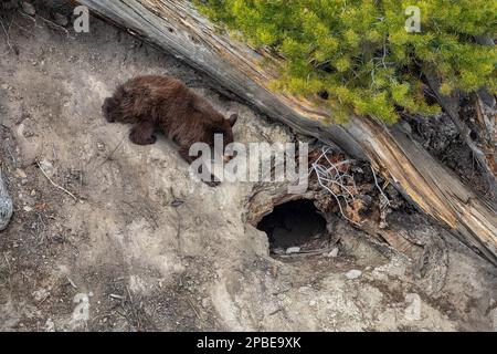
[[[278,205],[257,225],[267,233],[272,253],[289,253],[327,235],[326,220],[311,200],[299,199]]]

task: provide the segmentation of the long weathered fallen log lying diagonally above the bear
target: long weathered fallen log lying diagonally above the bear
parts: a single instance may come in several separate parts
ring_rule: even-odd
[[[422,210],[447,225],[467,244],[497,264],[496,211],[451,171],[396,128],[369,117],[324,125],[331,112],[314,103],[273,92],[278,58],[257,53],[221,34],[188,1],[80,0],[94,12],[126,28],[191,66],[209,74],[252,106],[295,131],[368,158]]]

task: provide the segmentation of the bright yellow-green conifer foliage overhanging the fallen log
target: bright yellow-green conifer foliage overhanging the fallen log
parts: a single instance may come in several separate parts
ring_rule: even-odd
[[[200,10],[252,45],[285,58],[277,87],[318,98],[334,117],[350,113],[394,123],[399,112],[434,114],[423,67],[436,67],[442,92],[497,93],[495,0],[198,0]],[[421,10],[421,33],[405,30],[405,9]]]

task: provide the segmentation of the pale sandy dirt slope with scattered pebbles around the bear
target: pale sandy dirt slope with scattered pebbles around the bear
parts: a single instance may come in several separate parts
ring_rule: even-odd
[[[40,18],[2,22],[0,158],[14,216],[0,232],[0,330],[497,330],[496,269],[448,232],[437,231],[448,266],[436,292],[414,260],[338,217],[338,253],[275,259],[244,221],[253,185],[195,183],[163,136],[133,145],[128,126],[102,117],[117,84],[170,74],[239,113],[236,140],[295,138],[200,73],[94,18],[70,37]]]

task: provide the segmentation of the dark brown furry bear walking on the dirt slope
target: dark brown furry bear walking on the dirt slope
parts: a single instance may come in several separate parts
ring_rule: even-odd
[[[179,146],[179,154],[189,164],[194,143],[214,144],[214,134],[223,134],[224,147],[233,143],[232,127],[237,119],[229,119],[203,97],[180,81],[169,76],[147,75],[129,80],[117,87],[102,106],[105,118],[113,123],[134,124],[129,138],[138,145],[154,144],[155,133],[162,131]]]

